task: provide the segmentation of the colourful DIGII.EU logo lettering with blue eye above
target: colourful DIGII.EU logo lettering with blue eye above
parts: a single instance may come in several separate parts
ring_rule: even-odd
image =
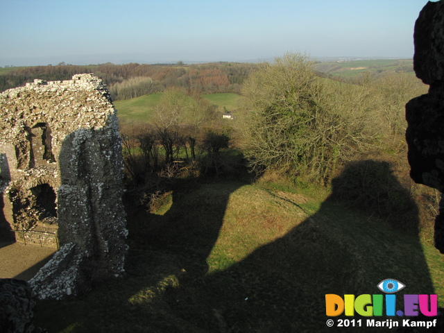
[[[404,295],[404,309],[396,310],[396,291],[405,287],[404,284],[394,279],[386,279],[379,282],[377,287],[386,293],[385,295],[363,294],[359,296],[344,295],[343,298],[334,293],[325,295],[325,311],[327,316],[436,316],[438,314],[437,295]],[[385,296],[385,297],[384,297]],[[385,305],[385,306],[384,306]],[[384,311],[385,309],[385,311]]]

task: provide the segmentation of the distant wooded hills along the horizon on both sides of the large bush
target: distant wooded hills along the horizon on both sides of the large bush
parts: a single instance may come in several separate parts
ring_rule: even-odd
[[[0,68],[0,91],[19,87],[35,78],[70,80],[74,74],[93,73],[110,89],[114,101],[133,99],[146,94],[163,92],[167,87],[185,87],[200,94],[235,93],[249,74],[259,65],[240,62],[211,62],[199,65],[57,65]],[[363,73],[372,75],[403,72],[413,75],[413,60],[354,60],[318,62],[319,76],[353,83]]]

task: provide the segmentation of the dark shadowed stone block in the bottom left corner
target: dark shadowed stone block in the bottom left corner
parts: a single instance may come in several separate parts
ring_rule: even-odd
[[[31,287],[22,280],[0,279],[0,332],[35,332],[34,313]]]

